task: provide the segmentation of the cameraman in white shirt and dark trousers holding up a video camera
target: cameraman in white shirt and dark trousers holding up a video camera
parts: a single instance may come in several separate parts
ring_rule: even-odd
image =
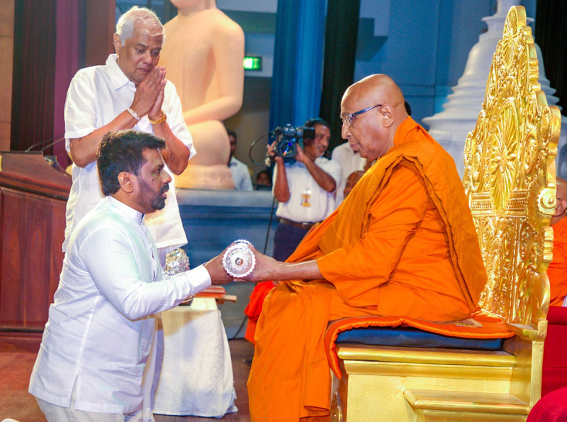
[[[305,127],[315,128],[315,139],[305,139],[305,148],[297,147],[296,161],[284,163],[276,156],[273,143],[268,154],[274,157],[274,196],[279,225],[274,235],[274,258],[286,260],[315,223],[335,210],[335,190],[342,170],[337,162],[322,155],[329,147],[331,131],[322,118],[312,118]]]

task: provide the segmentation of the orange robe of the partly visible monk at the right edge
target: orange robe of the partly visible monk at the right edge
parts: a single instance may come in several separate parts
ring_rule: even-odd
[[[554,260],[549,264],[547,277],[551,286],[549,304],[561,306],[567,296],[567,218],[562,218],[553,226]]]

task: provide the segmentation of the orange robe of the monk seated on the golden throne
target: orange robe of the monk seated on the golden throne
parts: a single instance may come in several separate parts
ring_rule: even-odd
[[[486,282],[454,162],[412,118],[288,262],[306,260],[324,279],[284,282],[264,301],[248,382],[254,422],[329,420],[329,321],[456,321],[471,316]]]

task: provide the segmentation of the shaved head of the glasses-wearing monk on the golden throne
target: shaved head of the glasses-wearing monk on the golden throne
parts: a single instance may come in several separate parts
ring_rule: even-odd
[[[408,118],[408,112],[402,91],[393,79],[386,74],[373,74],[344,92],[341,118],[342,138],[349,140],[361,157],[371,161],[393,147],[395,131]]]

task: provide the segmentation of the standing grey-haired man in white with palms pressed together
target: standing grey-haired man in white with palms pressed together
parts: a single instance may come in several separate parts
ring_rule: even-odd
[[[157,66],[164,28],[152,11],[134,6],[120,16],[114,34],[116,54],[106,65],[86,67],[72,79],[65,103],[66,148],[73,160],[73,185],[67,202],[69,236],[103,197],[96,173],[96,151],[109,131],[135,129],[165,140],[167,171],[181,174],[195,155],[181,100],[165,68]],[[173,186],[172,186],[173,188]],[[165,255],[187,243],[174,189],[164,209],[147,216],[162,265]]]

